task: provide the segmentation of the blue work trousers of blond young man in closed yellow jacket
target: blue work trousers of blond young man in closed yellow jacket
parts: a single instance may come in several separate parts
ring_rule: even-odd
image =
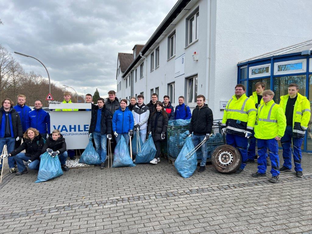
[[[280,174],[278,157],[278,143],[275,138],[273,139],[258,139],[258,172],[261,174],[266,173],[266,157],[267,149],[269,149],[269,155],[271,160],[271,174],[277,176]]]

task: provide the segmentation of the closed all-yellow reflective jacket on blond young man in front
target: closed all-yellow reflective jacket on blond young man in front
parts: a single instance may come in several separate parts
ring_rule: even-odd
[[[255,138],[273,139],[284,136],[286,129],[286,116],[283,108],[273,100],[259,105],[255,124]]]

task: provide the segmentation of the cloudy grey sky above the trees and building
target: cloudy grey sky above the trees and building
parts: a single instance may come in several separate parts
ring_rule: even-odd
[[[116,89],[118,52],[145,44],[177,0],[0,0],[0,44],[26,72],[78,93]],[[52,94],[53,95],[53,94]]]

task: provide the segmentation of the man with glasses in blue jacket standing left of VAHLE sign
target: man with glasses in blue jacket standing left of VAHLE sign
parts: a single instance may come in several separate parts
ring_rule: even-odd
[[[42,102],[35,101],[34,110],[28,113],[26,129],[35,128],[39,131],[43,139],[47,139],[50,134],[50,115],[42,109]]]

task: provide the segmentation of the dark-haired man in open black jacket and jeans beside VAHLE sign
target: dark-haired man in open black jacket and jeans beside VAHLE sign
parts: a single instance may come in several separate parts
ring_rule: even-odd
[[[103,98],[98,98],[97,104],[91,114],[89,137],[94,138],[95,150],[101,159],[100,169],[104,169],[107,139],[112,139],[112,113],[106,108]]]

